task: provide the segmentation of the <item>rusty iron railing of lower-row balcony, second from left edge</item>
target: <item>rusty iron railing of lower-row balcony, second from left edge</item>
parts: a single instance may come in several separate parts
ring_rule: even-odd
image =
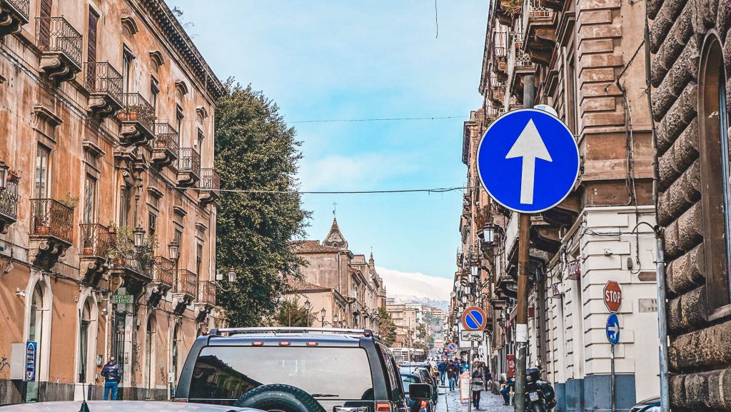
[[[31,199],[31,235],[54,236],[72,243],[74,209],[53,199]]]

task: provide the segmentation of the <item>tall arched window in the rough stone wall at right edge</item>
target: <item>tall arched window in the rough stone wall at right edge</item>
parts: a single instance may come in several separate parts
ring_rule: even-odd
[[[713,314],[730,302],[731,178],[723,50],[716,31],[703,42],[698,76],[698,126],[702,181],[703,248],[708,309]]]

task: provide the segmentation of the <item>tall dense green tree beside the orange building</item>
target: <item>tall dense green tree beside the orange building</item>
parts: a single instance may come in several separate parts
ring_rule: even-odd
[[[287,241],[303,235],[308,212],[296,193],[225,190],[295,190],[300,142],[277,105],[260,91],[231,78],[225,86],[216,103],[216,171],[223,190],[216,264],[232,266],[238,275],[231,291],[219,292],[217,299],[232,326],[257,326],[263,317],[276,314],[283,276],[298,275],[303,261]]]

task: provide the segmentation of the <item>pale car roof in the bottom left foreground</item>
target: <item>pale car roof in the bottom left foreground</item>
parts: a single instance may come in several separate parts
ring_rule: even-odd
[[[264,412],[260,409],[231,408],[200,403],[154,402],[145,400],[90,400],[89,412]],[[38,402],[0,406],[7,412],[79,412],[81,402]]]

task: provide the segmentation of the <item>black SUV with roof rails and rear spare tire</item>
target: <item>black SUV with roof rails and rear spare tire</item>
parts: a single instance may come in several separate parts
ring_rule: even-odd
[[[407,411],[393,355],[368,329],[211,329],[194,342],[175,400],[265,411]]]

